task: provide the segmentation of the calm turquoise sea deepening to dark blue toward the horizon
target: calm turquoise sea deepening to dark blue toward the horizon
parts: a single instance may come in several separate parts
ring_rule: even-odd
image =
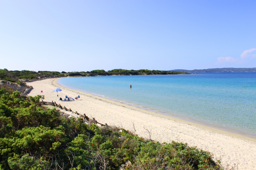
[[[256,73],[67,77],[58,83],[256,137]]]

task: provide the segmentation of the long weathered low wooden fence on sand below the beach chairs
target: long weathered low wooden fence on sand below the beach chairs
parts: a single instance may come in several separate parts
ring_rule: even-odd
[[[77,111],[74,112],[72,111],[70,108],[66,108],[65,106],[61,106],[60,104],[57,104],[55,101],[51,101],[51,102],[48,102],[48,101],[43,101],[41,102],[42,104],[44,105],[51,105],[51,106],[55,106],[55,107],[58,107],[60,109],[64,109],[66,111],[69,111],[69,112],[72,112],[72,113],[75,113],[77,115],[79,115],[81,118],[83,118],[84,120],[88,121],[88,122],[92,122],[94,124],[100,124],[101,126],[108,126],[108,124],[103,124],[103,123],[100,123],[98,122],[97,120],[95,120],[95,118],[93,117],[92,119],[90,119],[90,117],[88,117],[86,114],[80,114],[78,113]],[[61,112],[61,116],[65,116],[65,117],[68,117],[70,116],[69,114],[65,113],[65,112]],[[72,115],[71,115],[72,116]],[[74,116],[73,116],[74,117]]]

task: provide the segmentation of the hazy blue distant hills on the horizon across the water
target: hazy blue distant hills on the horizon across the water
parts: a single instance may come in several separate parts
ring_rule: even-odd
[[[168,70],[168,71],[179,71],[187,73],[201,73],[201,72],[256,72],[256,68],[215,68],[215,69],[202,69],[202,70]]]

